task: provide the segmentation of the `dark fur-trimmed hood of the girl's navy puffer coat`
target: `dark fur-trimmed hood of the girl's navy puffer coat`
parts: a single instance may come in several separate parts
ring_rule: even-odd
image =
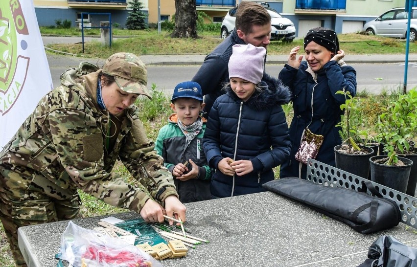
[[[259,87],[262,91],[255,91],[247,101],[247,104],[256,110],[265,110],[276,105],[285,105],[291,100],[290,89],[284,86],[279,79],[271,75],[264,73]],[[239,97],[237,97],[230,87],[230,84],[224,90],[232,99],[240,101]]]

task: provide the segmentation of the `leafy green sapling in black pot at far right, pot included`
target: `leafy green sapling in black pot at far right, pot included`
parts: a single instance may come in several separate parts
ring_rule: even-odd
[[[387,155],[372,156],[371,180],[414,196],[417,183],[417,90],[400,95],[378,116],[378,138]]]

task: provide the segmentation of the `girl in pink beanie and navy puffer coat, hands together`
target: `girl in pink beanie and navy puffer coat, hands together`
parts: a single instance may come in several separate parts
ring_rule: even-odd
[[[288,88],[263,73],[266,49],[234,45],[229,61],[230,84],[216,99],[203,137],[209,166],[216,169],[213,198],[265,191],[272,168],[289,159],[291,142],[281,105]],[[263,76],[263,81],[261,82]]]

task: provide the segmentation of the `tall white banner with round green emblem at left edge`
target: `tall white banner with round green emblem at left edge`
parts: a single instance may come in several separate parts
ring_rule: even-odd
[[[0,0],[0,151],[52,79],[32,0]]]

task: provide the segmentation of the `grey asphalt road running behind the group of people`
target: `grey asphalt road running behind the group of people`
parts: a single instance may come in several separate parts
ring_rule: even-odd
[[[60,84],[60,74],[67,68],[77,66],[81,61],[89,61],[98,66],[103,65],[102,59],[82,59],[70,56],[47,55],[49,69],[52,75],[54,87]],[[351,64],[357,72],[358,91],[367,90],[371,93],[379,93],[383,89],[394,90],[401,86],[404,81],[404,64]],[[199,65],[187,66],[147,66],[149,88],[155,83],[169,96],[174,87],[190,80],[199,69]],[[283,65],[267,65],[267,73],[278,76]],[[417,86],[417,64],[409,64],[407,89]]]

